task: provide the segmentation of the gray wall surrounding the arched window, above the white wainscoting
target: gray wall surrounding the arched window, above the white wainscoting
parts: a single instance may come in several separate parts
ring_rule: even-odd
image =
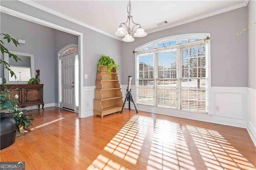
[[[132,43],[123,42],[122,77],[127,84],[128,75],[135,77],[135,61],[132,51],[150,41],[179,34],[211,34],[211,85],[247,87],[248,50],[247,37],[236,33],[246,28],[247,7],[204,18],[188,24],[176,26],[135,38]],[[255,72],[255,71],[254,71]],[[134,84],[132,79],[132,84]]]

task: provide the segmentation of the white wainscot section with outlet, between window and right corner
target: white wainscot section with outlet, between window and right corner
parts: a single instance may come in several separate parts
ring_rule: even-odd
[[[247,127],[247,87],[212,87],[212,123]],[[219,107],[219,111],[216,109]]]

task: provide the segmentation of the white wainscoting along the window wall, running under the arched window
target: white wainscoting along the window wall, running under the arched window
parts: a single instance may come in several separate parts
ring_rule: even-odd
[[[127,85],[121,85],[122,93],[125,95]],[[135,86],[131,86],[132,95],[135,98]],[[182,117],[198,121],[230,125],[235,127],[247,127],[247,87],[212,87],[211,88],[211,108],[209,114],[181,111],[163,107],[152,107],[146,105],[136,105],[140,111],[158,113],[175,117]],[[216,111],[219,106],[220,111]],[[125,108],[128,108],[126,102]],[[134,109],[131,103],[131,108]]]

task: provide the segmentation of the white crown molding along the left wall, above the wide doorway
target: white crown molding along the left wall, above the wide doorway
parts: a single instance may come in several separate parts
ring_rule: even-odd
[[[46,7],[46,6],[40,5],[40,4],[36,3],[36,2],[30,1],[30,0],[18,0],[18,1],[23,2],[24,4],[27,4],[27,5],[33,6],[33,7],[35,7],[35,8],[38,8],[38,9],[40,9],[40,10],[43,10],[43,11],[45,11],[45,12],[48,12],[48,13],[50,13],[50,14],[53,14],[53,15],[55,15],[55,16],[58,16],[58,17],[60,17],[60,18],[63,18],[63,19],[65,19],[65,20],[74,22],[74,23],[76,23],[76,24],[78,24],[78,25],[80,25],[80,26],[84,26],[84,27],[86,27],[86,28],[89,28],[90,30],[94,30],[94,31],[96,31],[96,32],[99,32],[99,33],[104,34],[104,35],[106,35],[106,36],[109,36],[109,37],[111,37],[111,38],[115,38],[116,40],[122,41],[121,38],[119,38],[119,37],[117,37],[117,36],[115,36],[115,35],[113,35],[113,34],[104,32],[103,30],[100,30],[100,29],[98,29],[98,28],[95,28],[95,27],[93,27],[93,26],[90,26],[90,25],[88,25],[88,24],[86,24],[86,23],[84,23],[84,22],[81,22],[81,21],[79,21],[79,20],[76,20],[76,19],[74,19],[74,18],[72,18],[72,17],[70,17],[70,16],[67,16],[67,15],[62,14],[62,13],[60,13],[60,12],[57,12],[57,11],[55,11],[55,10],[52,10],[52,9],[50,9],[50,8],[48,8],[48,7]]]

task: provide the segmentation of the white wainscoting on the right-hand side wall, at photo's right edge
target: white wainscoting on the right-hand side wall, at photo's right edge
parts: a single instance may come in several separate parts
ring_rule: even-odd
[[[248,124],[247,131],[256,146],[256,90],[248,87],[247,93]]]

